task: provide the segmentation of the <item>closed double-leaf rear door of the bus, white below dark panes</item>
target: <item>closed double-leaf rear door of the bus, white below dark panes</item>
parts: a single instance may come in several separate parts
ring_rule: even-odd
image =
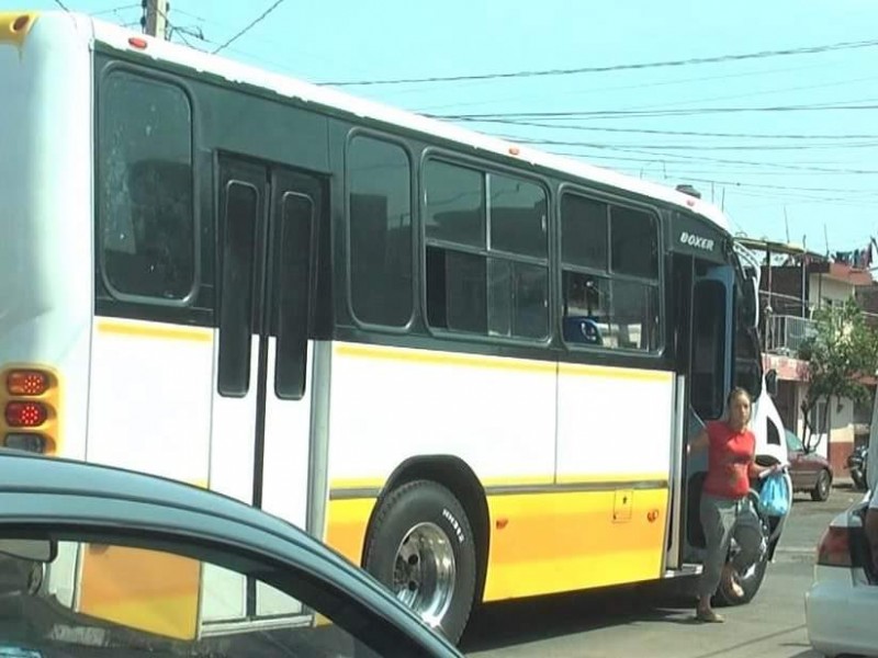
[[[221,158],[210,487],[306,527],[313,245],[319,181]],[[205,574],[202,619],[289,615],[290,599],[232,572]],[[213,593],[213,592],[212,592]]]

